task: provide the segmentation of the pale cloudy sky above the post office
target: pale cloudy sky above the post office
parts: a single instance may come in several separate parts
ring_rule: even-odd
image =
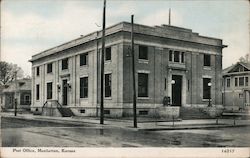
[[[223,68],[250,52],[247,0],[107,0],[107,27],[121,21],[149,26],[171,24],[216,37]],[[101,29],[103,0],[2,0],[1,60],[31,75],[31,56]]]

